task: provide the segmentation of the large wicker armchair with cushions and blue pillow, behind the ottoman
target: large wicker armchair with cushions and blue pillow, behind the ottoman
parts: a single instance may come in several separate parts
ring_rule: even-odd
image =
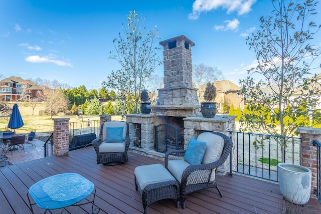
[[[165,154],[165,167],[180,185],[182,207],[186,194],[200,189],[216,187],[216,168],[222,165],[232,150],[232,140],[220,132],[203,132],[192,138],[186,150],[170,150]]]

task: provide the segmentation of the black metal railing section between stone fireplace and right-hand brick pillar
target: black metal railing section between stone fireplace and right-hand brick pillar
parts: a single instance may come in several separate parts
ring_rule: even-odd
[[[235,135],[233,144],[236,147],[234,152],[237,164],[233,172],[278,182],[277,163],[299,164],[298,137],[237,131],[229,133],[230,136]],[[232,164],[232,161],[230,163]]]

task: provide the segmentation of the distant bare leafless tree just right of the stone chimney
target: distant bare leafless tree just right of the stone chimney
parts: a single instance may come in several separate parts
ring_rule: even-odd
[[[208,82],[214,82],[218,80],[224,80],[222,71],[217,67],[211,67],[202,64],[193,65],[193,84],[195,88],[199,88]]]

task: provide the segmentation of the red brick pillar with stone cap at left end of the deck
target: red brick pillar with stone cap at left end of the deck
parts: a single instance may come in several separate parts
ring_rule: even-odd
[[[69,151],[70,118],[54,118],[54,155],[62,156]]]

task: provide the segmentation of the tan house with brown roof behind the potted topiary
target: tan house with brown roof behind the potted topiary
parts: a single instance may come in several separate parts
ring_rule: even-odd
[[[228,113],[230,106],[233,104],[234,108],[244,108],[243,97],[239,95],[240,87],[229,80],[214,81],[216,87],[216,98],[214,102],[217,103],[217,113]],[[205,102],[203,95],[205,92],[206,84],[200,86],[198,96],[200,102]],[[223,103],[228,105],[227,112],[223,111]]]

